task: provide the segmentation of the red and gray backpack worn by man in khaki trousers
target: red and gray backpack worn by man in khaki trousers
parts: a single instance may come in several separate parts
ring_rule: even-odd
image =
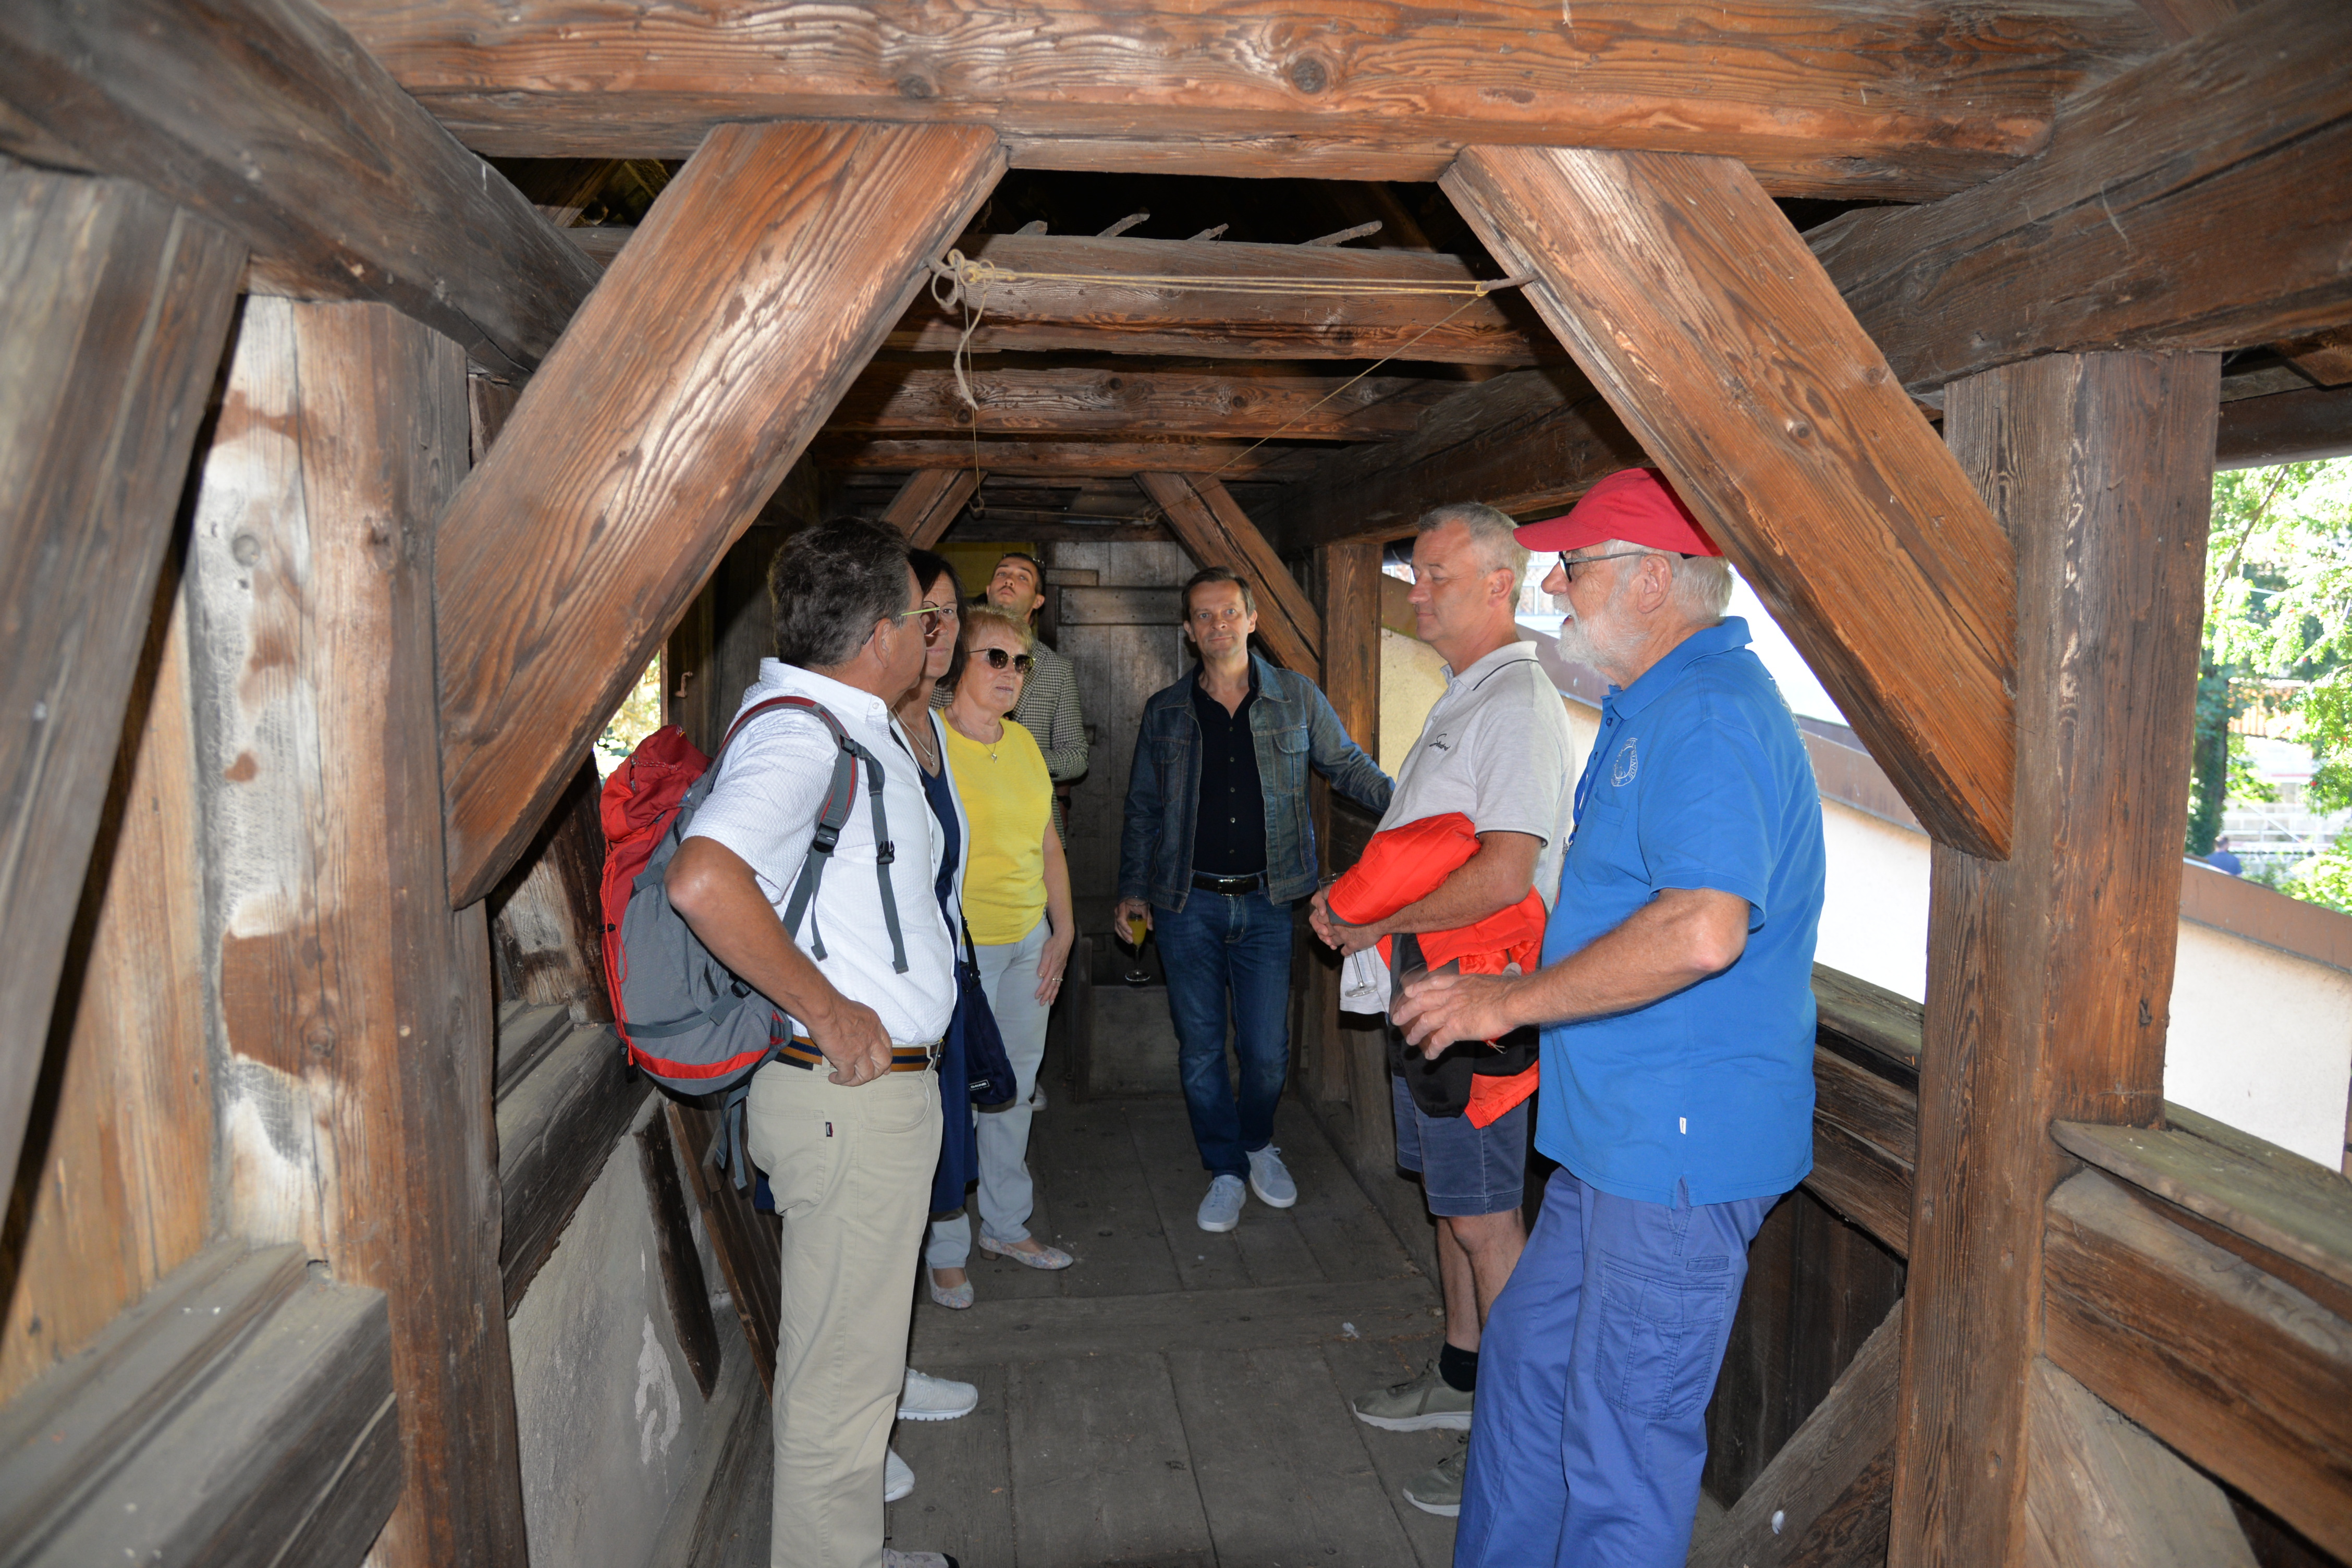
[[[750,983],[710,957],[687,919],[670,907],[663,877],[687,837],[696,809],[710,795],[720,759],[753,719],[807,715],[833,736],[833,783],[816,818],[816,839],[800,865],[800,879],[783,907],[783,929],[826,957],[816,924],[816,889],[842,837],[842,825],[866,773],[866,802],[875,825],[875,870],[882,879],[882,917],[889,924],[891,961],[906,973],[906,940],[891,896],[891,839],[882,816],[882,764],[849,738],[842,722],[804,696],[779,696],[746,710],[717,757],[703,757],[675,724],[663,724],[604,780],[604,985],[612,990],[614,1027],[628,1060],[663,1088],[706,1095],[748,1079],[793,1037],[793,1020]]]

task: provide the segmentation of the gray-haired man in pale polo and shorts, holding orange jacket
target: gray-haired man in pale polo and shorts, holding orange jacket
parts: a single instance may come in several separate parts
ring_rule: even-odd
[[[1397,769],[1397,792],[1381,827],[1461,813],[1477,832],[1477,853],[1428,898],[1383,922],[1350,926],[1331,917],[1327,893],[1315,896],[1315,931],[1341,952],[1357,952],[1383,936],[1418,936],[1477,924],[1526,898],[1534,886],[1545,907],[1559,891],[1559,851],[1569,837],[1573,757],[1569,715],[1536,649],[1519,642],[1519,576],[1526,548],[1512,520],[1491,505],[1439,505],[1414,541],[1414,630],[1446,661],[1446,689],[1430,708],[1421,738]],[[1392,945],[1399,973],[1414,947]],[[1534,1072],[1534,1034],[1503,1039],[1505,1056],[1524,1056]],[[1472,1126],[1461,1112],[1432,1114],[1430,1079],[1463,1058],[1494,1070],[1486,1046],[1454,1046],[1451,1063],[1425,1063],[1390,1025],[1390,1093],[1397,1114],[1397,1164],[1421,1173],[1423,1197],[1437,1215],[1437,1272],[1446,1298],[1446,1340],[1439,1359],[1416,1380],[1362,1394],[1359,1420],[1390,1432],[1430,1427],[1470,1429],[1477,1387],[1477,1347],[1486,1309],[1510,1281],[1526,1246],[1519,1204],[1526,1182],[1524,1091],[1498,1119]],[[1529,1079],[1531,1081],[1531,1079]],[[1404,1500],[1430,1514],[1461,1509],[1463,1453],[1404,1486]]]

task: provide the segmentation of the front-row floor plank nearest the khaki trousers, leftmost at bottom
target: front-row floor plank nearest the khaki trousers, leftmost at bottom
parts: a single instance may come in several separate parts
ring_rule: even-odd
[[[891,1448],[915,1472],[915,1490],[887,1509],[884,1540],[898,1552],[946,1552],[971,1568],[1014,1568],[1014,1474],[1009,1375],[1002,1366],[917,1366],[981,1392],[957,1420],[903,1420]]]

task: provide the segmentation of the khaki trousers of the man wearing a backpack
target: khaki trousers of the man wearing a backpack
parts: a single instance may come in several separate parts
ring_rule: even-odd
[[[844,1088],[769,1063],[746,1145],[783,1215],[771,1568],[880,1568],[882,1460],[906,1380],[938,1074]]]

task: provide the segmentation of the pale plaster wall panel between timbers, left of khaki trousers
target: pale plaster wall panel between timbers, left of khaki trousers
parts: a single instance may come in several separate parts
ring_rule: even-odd
[[[532,1561],[642,1568],[694,1474],[706,1406],[670,1324],[635,1138],[614,1145],[506,1335]]]

